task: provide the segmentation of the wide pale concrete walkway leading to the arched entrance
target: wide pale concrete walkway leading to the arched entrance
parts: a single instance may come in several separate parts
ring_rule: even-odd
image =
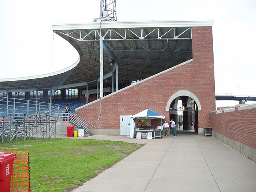
[[[146,145],[73,192],[256,192],[254,162],[213,137],[177,134],[84,137]]]

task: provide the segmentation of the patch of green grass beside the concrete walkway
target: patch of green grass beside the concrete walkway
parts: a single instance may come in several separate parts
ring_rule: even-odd
[[[30,152],[32,192],[66,192],[94,178],[144,144],[90,139],[38,139],[0,144]]]

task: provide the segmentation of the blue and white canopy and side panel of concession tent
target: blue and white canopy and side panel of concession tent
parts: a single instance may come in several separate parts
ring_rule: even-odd
[[[165,116],[163,115],[160,115],[150,109],[146,109],[142,112],[139,112],[133,116],[130,117],[130,138],[134,138],[134,128],[135,128],[135,121],[134,119],[136,117],[139,117],[139,118],[161,118],[161,119],[165,119]]]

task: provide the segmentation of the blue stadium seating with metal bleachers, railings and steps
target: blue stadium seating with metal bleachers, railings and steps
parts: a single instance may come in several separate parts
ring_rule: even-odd
[[[82,102],[70,100],[70,106],[81,106]],[[65,104],[66,105],[66,104]],[[72,111],[66,114],[60,104],[0,97],[0,138],[5,141],[31,138],[56,137],[58,130],[67,125],[82,126],[88,136],[88,122]],[[66,132],[64,133],[66,134]]]

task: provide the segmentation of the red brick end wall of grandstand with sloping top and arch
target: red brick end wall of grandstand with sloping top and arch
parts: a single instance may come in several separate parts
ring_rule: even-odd
[[[201,104],[199,128],[210,127],[210,111],[215,110],[212,27],[192,27],[192,48],[192,62],[114,92],[76,113],[100,129],[119,129],[120,115],[134,115],[147,108],[169,120],[168,100],[174,93],[187,90]]]

